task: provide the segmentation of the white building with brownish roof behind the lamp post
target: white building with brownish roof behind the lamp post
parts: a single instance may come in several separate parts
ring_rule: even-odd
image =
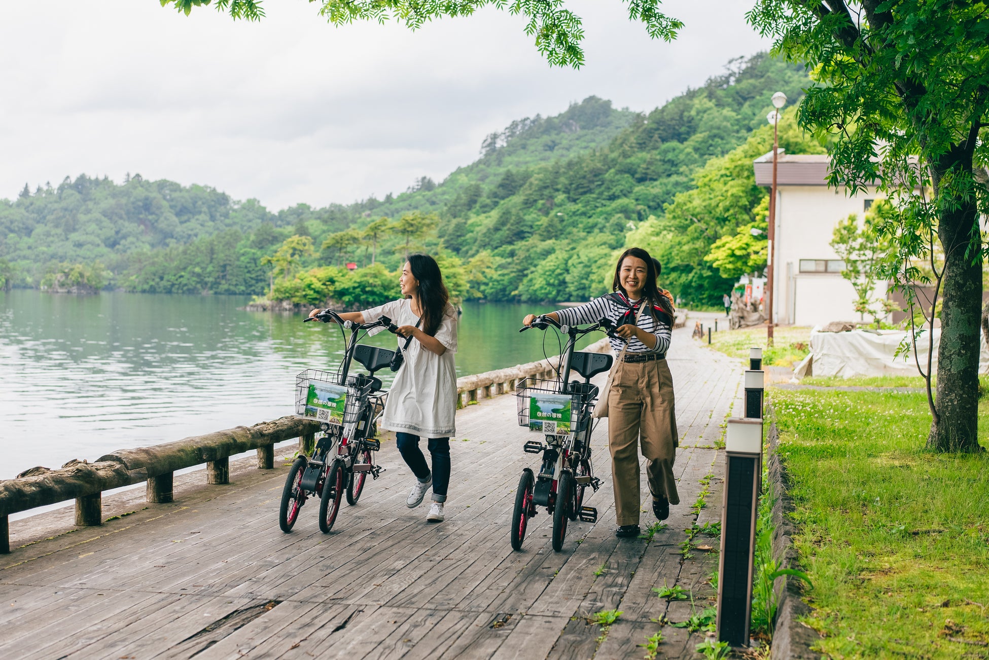
[[[852,284],[831,247],[835,225],[851,213],[862,220],[876,199],[874,189],[849,196],[828,188],[826,155],[780,154],[776,162],[775,263],[772,316],[775,323],[824,325],[857,321]],[[756,184],[772,184],[772,152],[757,158]],[[880,196],[881,197],[881,196]],[[886,286],[875,293],[885,297]],[[871,320],[871,319],[865,319]]]

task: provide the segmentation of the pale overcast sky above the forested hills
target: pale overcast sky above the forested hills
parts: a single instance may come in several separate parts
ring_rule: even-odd
[[[0,198],[66,175],[214,186],[272,210],[401,192],[478,156],[512,120],[587,96],[648,111],[768,44],[751,0],[668,0],[686,27],[651,41],[620,0],[573,0],[587,64],[550,68],[524,19],[486,9],[411,33],[334,28],[306,0],[234,23],[158,0],[4,3]]]

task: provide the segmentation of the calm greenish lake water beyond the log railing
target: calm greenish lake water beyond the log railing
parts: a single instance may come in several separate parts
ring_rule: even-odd
[[[301,315],[237,309],[246,302],[0,291],[0,479],[292,414],[296,373],[335,367],[340,332]],[[542,333],[517,330],[525,313],[546,310],[466,303],[457,373],[542,358]],[[396,342],[381,333],[364,343]],[[547,334],[546,354],[558,353]]]

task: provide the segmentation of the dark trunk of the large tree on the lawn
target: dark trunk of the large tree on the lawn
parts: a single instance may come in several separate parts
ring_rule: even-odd
[[[964,163],[951,164],[952,169]],[[971,160],[968,161],[971,171]],[[935,186],[942,172],[935,172]],[[974,198],[957,200],[939,218],[944,247],[944,298],[938,346],[938,420],[931,425],[928,449],[981,452],[978,443],[979,330],[982,260],[978,258],[978,213]]]

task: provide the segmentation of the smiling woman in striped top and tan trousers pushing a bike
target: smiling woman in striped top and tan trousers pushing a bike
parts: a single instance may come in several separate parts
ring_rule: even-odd
[[[667,350],[674,323],[673,303],[656,284],[656,262],[641,248],[629,248],[618,258],[613,292],[586,304],[551,312],[564,325],[593,323],[608,318],[621,340],[611,340],[619,357],[612,367],[607,397],[608,448],[614,484],[617,536],[639,536],[639,452],[646,457],[646,475],[653,495],[653,513],[670,517],[679,504],[674,477],[676,415],[674,382],[667,367]],[[535,318],[523,320],[530,325]]]

